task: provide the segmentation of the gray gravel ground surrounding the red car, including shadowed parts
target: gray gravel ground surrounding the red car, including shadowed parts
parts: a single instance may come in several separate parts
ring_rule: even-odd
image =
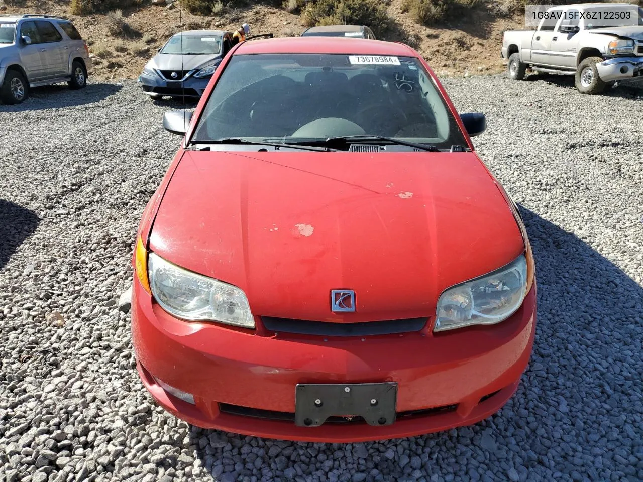
[[[179,138],[133,82],[0,107],[0,480],[643,479],[643,91],[446,79],[523,210],[539,324],[516,395],[473,427],[334,445],[202,431],[134,369],[134,234]]]

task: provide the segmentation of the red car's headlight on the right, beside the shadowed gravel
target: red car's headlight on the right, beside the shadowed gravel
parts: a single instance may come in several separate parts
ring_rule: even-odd
[[[508,265],[444,290],[438,300],[434,332],[469,325],[494,325],[514,314],[527,294],[527,260]]]

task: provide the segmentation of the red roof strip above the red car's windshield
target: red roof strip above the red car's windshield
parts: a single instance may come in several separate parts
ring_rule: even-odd
[[[248,40],[242,42],[235,51],[235,55],[252,53],[346,53],[350,55],[417,57],[417,53],[404,44],[344,37],[280,37],[278,39]]]

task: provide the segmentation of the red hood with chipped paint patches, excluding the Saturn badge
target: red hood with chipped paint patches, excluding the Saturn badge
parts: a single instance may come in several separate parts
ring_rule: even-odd
[[[159,256],[246,292],[253,314],[431,316],[442,290],[524,251],[474,153],[186,152],[150,237]],[[356,312],[331,312],[332,289]]]

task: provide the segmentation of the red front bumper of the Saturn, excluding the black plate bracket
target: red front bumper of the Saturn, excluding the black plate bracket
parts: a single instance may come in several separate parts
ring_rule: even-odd
[[[257,317],[258,318],[258,317]],[[260,322],[259,322],[260,323]],[[249,332],[180,321],[134,279],[132,343],[145,388],[168,412],[203,428],[307,442],[417,436],[492,415],[514,393],[532,351],[536,289],[509,319],[433,335],[357,338]],[[194,396],[170,395],[159,379]],[[397,382],[392,425],[294,424],[298,383]]]

